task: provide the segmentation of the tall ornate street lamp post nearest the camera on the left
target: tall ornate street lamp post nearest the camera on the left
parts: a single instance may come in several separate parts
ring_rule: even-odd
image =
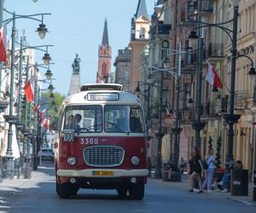
[[[2,1],[1,1],[2,2]],[[46,14],[31,14],[31,15],[20,15],[11,13],[6,9],[3,9],[8,14],[12,15],[12,18],[9,18],[7,20],[3,20],[4,24],[9,24],[10,22],[13,22],[12,26],[12,49],[11,49],[11,75],[10,75],[10,98],[9,98],[9,116],[5,116],[6,121],[9,123],[9,130],[8,130],[8,147],[6,152],[7,157],[7,168],[6,173],[9,178],[13,178],[13,172],[14,172],[14,164],[13,164],[13,153],[12,153],[12,140],[13,140],[13,131],[12,127],[13,124],[16,123],[17,117],[14,115],[14,79],[15,79],[15,20],[17,19],[30,19],[30,20],[36,20],[39,22],[42,22],[42,20],[38,20],[37,16],[42,16],[42,19],[44,15]]]

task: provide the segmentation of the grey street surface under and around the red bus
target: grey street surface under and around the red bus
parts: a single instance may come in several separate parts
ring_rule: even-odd
[[[228,195],[227,195],[228,196]],[[54,164],[43,164],[31,180],[0,183],[0,212],[255,212],[223,193],[188,193],[187,181],[163,182],[150,178],[142,201],[119,199],[115,191],[80,189],[72,199],[55,193]]]

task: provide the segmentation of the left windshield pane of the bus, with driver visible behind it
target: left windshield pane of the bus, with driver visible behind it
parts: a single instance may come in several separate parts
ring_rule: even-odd
[[[70,106],[66,108],[63,130],[102,132],[102,106]]]

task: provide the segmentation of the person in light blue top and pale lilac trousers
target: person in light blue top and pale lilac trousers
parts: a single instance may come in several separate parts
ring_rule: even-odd
[[[205,156],[205,161],[207,163],[208,169],[206,172],[206,179],[203,183],[203,188],[207,187],[207,192],[212,192],[212,178],[214,175],[215,166],[215,157],[213,156],[213,149],[209,148],[207,155]]]

